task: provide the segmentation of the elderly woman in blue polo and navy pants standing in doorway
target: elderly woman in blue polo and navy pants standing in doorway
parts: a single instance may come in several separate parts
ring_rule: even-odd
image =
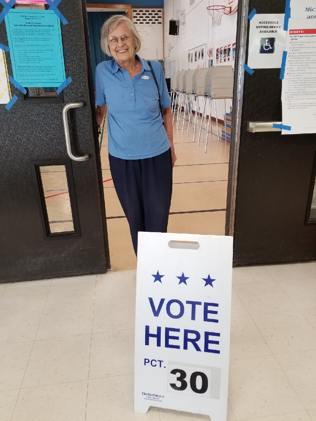
[[[107,105],[110,170],[136,255],[139,231],[167,231],[177,159],[163,69],[137,56],[140,43],[128,18],[111,16],[102,26],[101,48],[113,59],[96,67],[97,121]]]

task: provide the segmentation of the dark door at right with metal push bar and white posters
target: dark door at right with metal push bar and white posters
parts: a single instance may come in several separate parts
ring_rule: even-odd
[[[254,8],[257,13],[284,13],[285,3],[286,0],[238,3],[226,231],[234,235],[235,265],[316,259],[316,218],[312,206],[316,134],[248,131],[248,122],[282,122],[280,69],[255,69],[252,75],[244,72],[244,80],[238,86],[249,43],[249,19],[243,20],[243,14],[248,16]],[[245,29],[243,52],[241,39]],[[237,171],[233,168],[235,158]]]

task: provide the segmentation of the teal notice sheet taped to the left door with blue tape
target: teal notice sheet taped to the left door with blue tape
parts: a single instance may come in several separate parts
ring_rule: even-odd
[[[66,80],[60,21],[52,10],[11,9],[5,16],[13,77],[24,88]]]

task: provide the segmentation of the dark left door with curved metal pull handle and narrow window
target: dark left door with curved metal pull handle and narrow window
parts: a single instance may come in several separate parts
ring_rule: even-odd
[[[59,95],[56,87],[27,86],[22,94],[11,84],[18,101],[10,110],[0,105],[0,282],[110,267],[86,2],[62,0],[58,8],[69,22],[61,33],[72,82]],[[8,45],[4,21],[0,43]],[[67,154],[67,120],[72,155],[88,159]]]

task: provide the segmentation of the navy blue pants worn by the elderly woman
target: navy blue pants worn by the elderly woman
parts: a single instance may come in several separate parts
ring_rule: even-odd
[[[171,148],[152,158],[125,160],[109,154],[110,170],[137,256],[139,231],[167,232],[172,195]]]

